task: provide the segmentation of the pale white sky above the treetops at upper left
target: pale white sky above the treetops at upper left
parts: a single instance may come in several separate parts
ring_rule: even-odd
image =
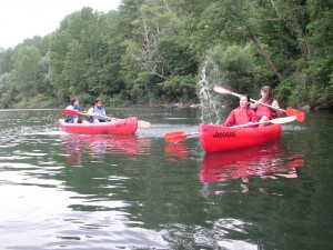
[[[83,7],[117,10],[121,0],[0,0],[0,47],[8,49],[26,38],[56,31],[65,16]]]

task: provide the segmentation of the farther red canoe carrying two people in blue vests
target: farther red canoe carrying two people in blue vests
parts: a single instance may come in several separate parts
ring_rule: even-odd
[[[120,133],[131,134],[138,129],[138,118],[131,117],[117,119],[109,122],[100,123],[67,123],[63,119],[58,121],[59,129],[70,133]]]

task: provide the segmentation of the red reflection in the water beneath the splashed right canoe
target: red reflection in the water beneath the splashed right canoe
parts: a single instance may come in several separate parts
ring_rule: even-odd
[[[304,156],[293,154],[285,158],[280,142],[248,149],[205,154],[199,173],[202,183],[218,182],[219,190],[224,192],[223,184],[240,179],[242,192],[249,191],[251,178],[279,179],[297,178],[297,167],[304,166]],[[203,192],[210,192],[204,187]],[[261,192],[266,190],[260,189]]]

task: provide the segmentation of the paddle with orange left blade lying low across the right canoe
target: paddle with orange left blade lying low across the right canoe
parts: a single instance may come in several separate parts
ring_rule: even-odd
[[[296,117],[283,117],[283,118],[276,118],[276,119],[272,119],[269,121],[264,121],[264,122],[251,122],[249,124],[240,124],[240,126],[233,126],[233,127],[229,127],[230,129],[233,128],[241,128],[241,127],[248,127],[248,126],[254,126],[254,124],[264,124],[264,123],[273,123],[273,124],[283,124],[283,123],[287,123],[287,122],[292,122],[296,120]],[[228,127],[225,127],[228,128]],[[167,142],[180,142],[186,139],[186,137],[192,136],[192,134],[198,134],[199,132],[183,132],[183,131],[174,131],[174,132],[170,132],[170,133],[165,133],[164,134],[164,139]]]

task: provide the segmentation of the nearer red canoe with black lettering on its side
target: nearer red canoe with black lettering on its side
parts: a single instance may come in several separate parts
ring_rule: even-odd
[[[200,142],[206,152],[240,149],[275,141],[281,137],[280,124],[260,128],[226,128],[213,124],[201,124]]]

